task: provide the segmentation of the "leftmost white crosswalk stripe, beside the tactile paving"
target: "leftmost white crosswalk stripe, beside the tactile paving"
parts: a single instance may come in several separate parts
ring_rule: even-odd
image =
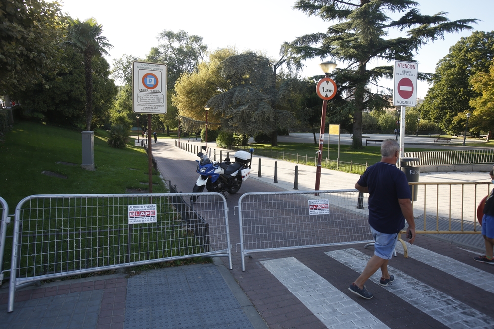
[[[389,328],[293,257],[261,261],[328,328]]]

